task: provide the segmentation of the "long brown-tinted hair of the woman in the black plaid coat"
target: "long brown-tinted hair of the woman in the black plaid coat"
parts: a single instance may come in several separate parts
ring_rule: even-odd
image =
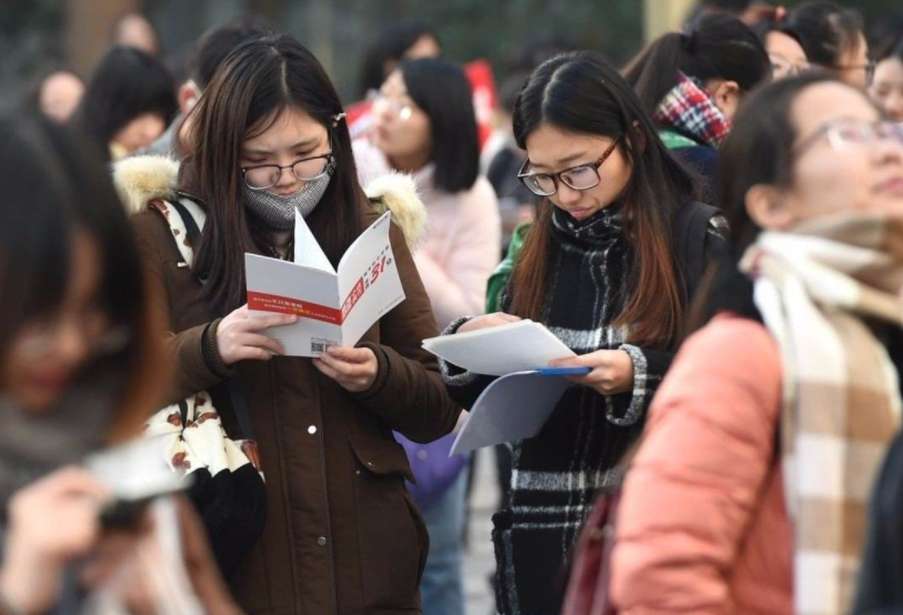
[[[579,134],[619,140],[632,170],[622,195],[626,240],[635,254],[624,292],[626,304],[613,325],[629,325],[632,343],[669,346],[680,335],[685,283],[675,266],[674,212],[696,194],[694,175],[674,160],[646,119],[626,81],[599,56],[566,53],[540,65],[514,105],[514,135],[526,138],[549,124]],[[511,312],[542,320],[549,291],[549,263],[556,250],[552,208],[538,203],[512,274]]]

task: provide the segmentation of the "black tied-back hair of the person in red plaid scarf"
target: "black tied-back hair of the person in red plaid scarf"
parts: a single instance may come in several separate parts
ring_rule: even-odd
[[[735,81],[749,92],[771,75],[771,62],[749,26],[728,14],[711,13],[685,34],[660,37],[624,68],[624,77],[650,115],[678,84],[679,72],[703,81]]]

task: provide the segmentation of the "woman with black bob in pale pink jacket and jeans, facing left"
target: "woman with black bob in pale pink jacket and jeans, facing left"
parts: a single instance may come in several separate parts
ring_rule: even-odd
[[[501,222],[492,185],[479,175],[473,93],[449,60],[405,61],[373,102],[372,143],[355,142],[363,175],[412,173],[429,224],[414,252],[440,327],[482,312],[486,281],[499,261]],[[453,436],[417,445],[401,440],[418,477],[412,493],[430,530],[423,575],[425,615],[462,615],[466,457],[449,457]]]

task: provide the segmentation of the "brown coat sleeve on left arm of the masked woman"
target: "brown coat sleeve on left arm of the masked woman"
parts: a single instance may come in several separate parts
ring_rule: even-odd
[[[173,404],[218,384],[229,375],[230,369],[222,363],[215,350],[218,320],[179,333],[172,331],[167,265],[174,268],[174,262],[180,259],[165,221],[153,211],[139,213],[132,221],[150,279],[153,311],[163,320],[168,331],[164,339],[165,363],[173,377],[164,403]]]

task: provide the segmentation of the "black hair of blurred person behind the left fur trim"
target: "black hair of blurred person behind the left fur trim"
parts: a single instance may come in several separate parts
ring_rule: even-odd
[[[130,121],[157,113],[168,124],[178,109],[172,75],[159,60],[114,47],[91,77],[73,121],[108,155],[110,141]]]

